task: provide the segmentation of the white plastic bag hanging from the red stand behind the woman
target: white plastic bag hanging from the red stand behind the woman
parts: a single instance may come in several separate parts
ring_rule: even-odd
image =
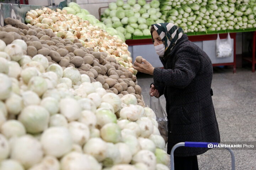
[[[232,49],[233,45],[229,33],[226,39],[220,39],[218,34],[216,40],[216,57],[231,57]]]

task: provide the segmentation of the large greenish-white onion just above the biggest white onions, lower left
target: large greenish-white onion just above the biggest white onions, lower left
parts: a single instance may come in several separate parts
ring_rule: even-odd
[[[18,120],[25,126],[27,132],[36,134],[47,129],[49,117],[49,112],[42,106],[30,105],[22,110]]]

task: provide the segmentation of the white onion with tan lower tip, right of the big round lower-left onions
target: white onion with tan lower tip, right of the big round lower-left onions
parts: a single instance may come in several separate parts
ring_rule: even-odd
[[[83,146],[90,138],[90,130],[87,125],[72,121],[68,125],[74,143]]]

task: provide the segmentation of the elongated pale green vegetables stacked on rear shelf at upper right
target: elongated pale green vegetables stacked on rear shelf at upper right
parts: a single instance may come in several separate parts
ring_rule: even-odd
[[[161,19],[184,32],[256,28],[255,0],[160,0]]]

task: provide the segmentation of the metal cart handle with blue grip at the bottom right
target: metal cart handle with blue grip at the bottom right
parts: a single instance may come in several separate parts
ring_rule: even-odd
[[[213,143],[213,142],[180,142],[174,145],[171,150],[171,170],[174,170],[174,151],[176,148],[180,146],[185,147],[197,147],[197,148],[213,148],[213,145],[222,145],[221,143]],[[231,154],[231,168],[232,170],[235,170],[235,155],[233,151],[226,147],[230,154]]]

